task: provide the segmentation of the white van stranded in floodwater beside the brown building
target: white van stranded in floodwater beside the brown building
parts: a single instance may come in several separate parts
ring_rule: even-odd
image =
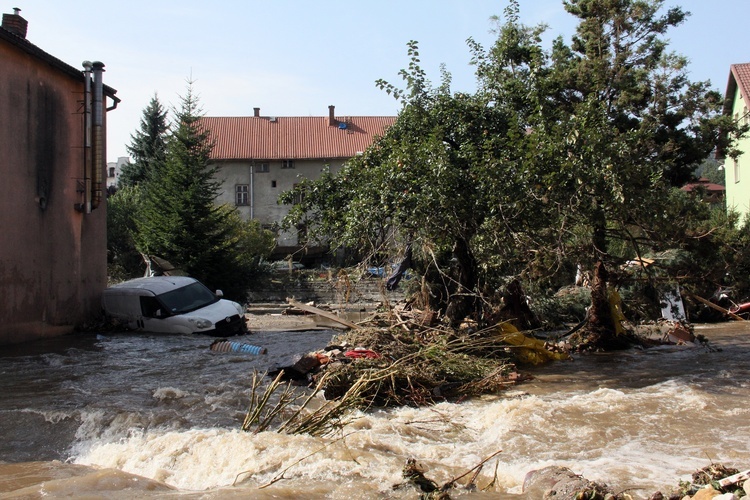
[[[137,278],[104,290],[108,319],[131,330],[155,333],[205,333],[215,337],[243,335],[247,323],[242,306],[221,298],[187,276]]]

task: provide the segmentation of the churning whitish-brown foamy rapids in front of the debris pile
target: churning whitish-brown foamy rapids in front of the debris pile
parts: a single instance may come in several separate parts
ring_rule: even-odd
[[[385,492],[403,481],[408,458],[442,483],[502,450],[484,467],[480,485],[492,481],[497,463],[498,488],[510,492],[520,491],[527,472],[547,465],[567,466],[594,480],[637,478],[641,486],[658,488],[675,484],[704,461],[700,456],[686,461],[682,441],[654,438],[665,425],[661,419],[678,419],[685,408],[702,402],[689,388],[677,389],[665,383],[646,391],[525,395],[361,414],[342,431],[343,439],[226,429],[133,432],[108,443],[97,440],[76,463],[121,469],[187,490],[228,486],[238,476],[259,486],[288,468],[284,477],[295,484],[346,477]],[[654,401],[667,396],[668,412],[653,415]]]

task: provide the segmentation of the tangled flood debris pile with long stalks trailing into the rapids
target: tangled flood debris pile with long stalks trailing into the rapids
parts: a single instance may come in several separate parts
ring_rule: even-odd
[[[265,389],[265,374],[254,375],[243,430],[326,435],[341,429],[352,410],[497,393],[525,378],[517,366],[568,356],[507,322],[457,330],[434,325],[421,312],[389,309],[360,324],[342,323],[351,328],[331,345],[268,372],[274,380]]]

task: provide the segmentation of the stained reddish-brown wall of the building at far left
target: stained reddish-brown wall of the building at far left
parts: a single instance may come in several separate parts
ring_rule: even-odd
[[[83,77],[0,40],[0,344],[70,332],[101,309],[106,200],[74,207],[82,93]]]

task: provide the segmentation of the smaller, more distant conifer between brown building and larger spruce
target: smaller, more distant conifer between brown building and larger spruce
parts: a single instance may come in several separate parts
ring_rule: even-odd
[[[127,150],[132,161],[122,167],[119,187],[140,184],[146,180],[151,169],[164,161],[168,133],[167,110],[154,95],[143,110],[140,130],[130,136]]]

